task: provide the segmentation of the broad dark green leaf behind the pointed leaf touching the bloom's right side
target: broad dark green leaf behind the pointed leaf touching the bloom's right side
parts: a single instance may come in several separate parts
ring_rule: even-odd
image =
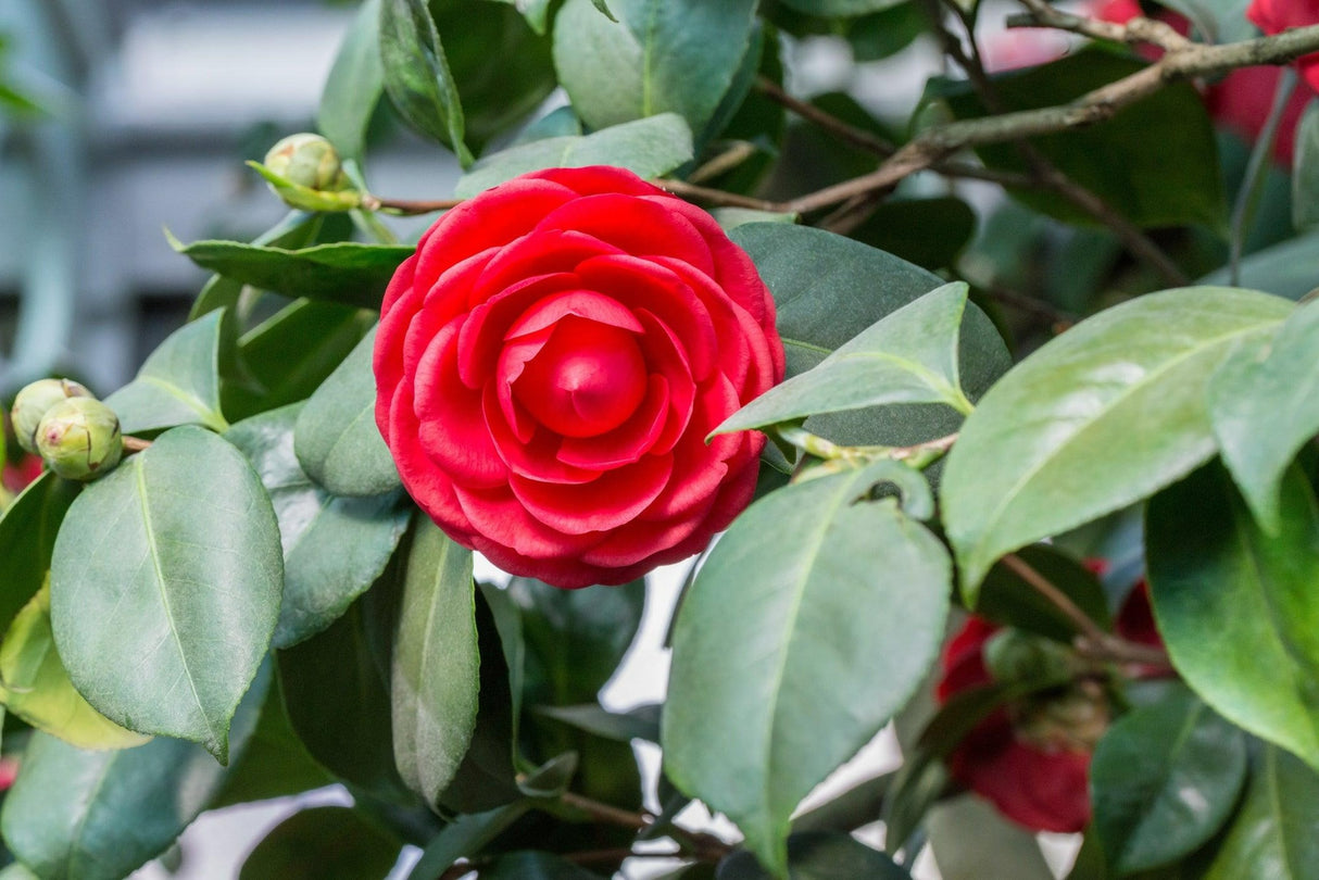
[[[729,236],[774,294],[787,375],[816,365],[885,315],[943,285],[930,272],[840,235],[752,223]],[[958,372],[975,400],[1012,364],[998,331],[975,305],[962,321]],[[885,406],[811,418],[807,430],[840,443],[905,446],[950,434],[962,416],[942,406]]]

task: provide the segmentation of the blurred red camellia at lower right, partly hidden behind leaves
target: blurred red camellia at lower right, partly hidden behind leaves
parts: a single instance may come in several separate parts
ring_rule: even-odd
[[[952,637],[943,653],[943,678],[935,690],[939,702],[993,683],[984,648],[998,629],[997,624],[971,617]],[[1122,604],[1116,629],[1129,641],[1162,645],[1144,582]],[[1155,673],[1142,669],[1136,674]],[[1088,727],[1100,715],[1080,714],[1084,715],[1080,723]],[[954,780],[1028,829],[1083,831],[1089,822],[1091,749],[1076,741],[1079,738],[1042,736],[1038,731],[1031,735],[1018,720],[1008,708],[1000,708],[980,722],[948,756]]]

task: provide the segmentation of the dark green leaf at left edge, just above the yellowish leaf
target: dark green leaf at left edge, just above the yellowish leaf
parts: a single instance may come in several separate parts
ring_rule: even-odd
[[[0,515],[0,559],[5,567],[0,578],[0,632],[46,582],[59,524],[79,491],[82,483],[46,471]]]

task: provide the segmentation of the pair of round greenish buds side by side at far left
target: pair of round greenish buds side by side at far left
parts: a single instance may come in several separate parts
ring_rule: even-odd
[[[18,446],[65,479],[94,480],[113,470],[124,454],[119,416],[69,379],[24,387],[9,414]]]

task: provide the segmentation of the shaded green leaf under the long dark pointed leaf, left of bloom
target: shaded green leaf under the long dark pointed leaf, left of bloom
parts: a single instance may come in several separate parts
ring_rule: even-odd
[[[256,389],[226,385],[233,420],[306,400],[353,350],[376,315],[352,306],[297,299],[239,340]]]

